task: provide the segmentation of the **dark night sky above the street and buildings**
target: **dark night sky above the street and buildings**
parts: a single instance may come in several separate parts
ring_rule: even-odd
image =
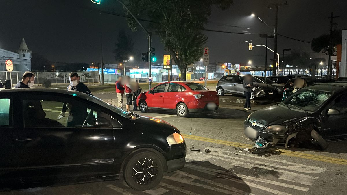
[[[202,1],[203,2],[203,1]],[[234,0],[234,5],[221,11],[213,9],[207,29],[248,32],[271,33],[275,21],[275,10],[265,8],[271,0]],[[285,2],[285,1],[278,1]],[[288,0],[288,6],[279,8],[278,33],[299,40],[311,42],[313,38],[329,33],[330,12],[334,12],[336,29],[347,28],[347,1],[345,0]],[[22,37],[28,48],[39,53],[51,61],[86,62],[101,61],[101,41],[105,63],[115,63],[113,50],[119,29],[129,33],[135,45],[137,57],[147,49],[147,36],[139,29],[130,31],[125,18],[100,13],[112,11],[124,14],[121,5],[114,0],[102,0],[96,5],[90,0],[1,0],[1,28],[0,48],[16,51]],[[92,10],[91,10],[92,9]],[[98,9],[98,10],[94,10]],[[254,13],[266,22],[266,26]],[[144,23],[144,25],[151,25]],[[248,42],[253,45],[264,44],[265,40],[259,35],[227,34],[205,32],[209,40],[206,44],[210,48],[210,62],[247,63],[252,60],[256,66],[264,61],[264,47],[248,50]],[[160,61],[165,53],[159,37],[153,37],[152,46]],[[278,37],[278,51],[292,48],[310,52],[312,58],[323,57],[311,50],[311,44]],[[273,48],[273,41],[269,39],[269,47]],[[269,56],[272,56],[270,53]],[[269,57],[271,58],[271,57]],[[143,63],[143,62],[141,62]]]

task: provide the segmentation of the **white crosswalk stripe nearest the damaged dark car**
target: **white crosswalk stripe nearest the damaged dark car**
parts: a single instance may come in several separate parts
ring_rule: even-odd
[[[232,151],[225,151],[225,150],[220,150],[220,149],[215,149],[215,148],[206,148],[206,149],[209,149],[210,151],[217,151],[218,155],[220,155],[220,154],[223,155],[222,153],[228,153],[228,152],[233,153]],[[231,156],[231,155],[227,155],[227,154],[224,154],[224,155]],[[264,162],[264,157],[250,155],[250,154],[239,153],[238,156],[247,156],[248,158],[261,159],[262,160],[261,162],[259,162],[259,160],[255,160],[255,161],[251,160],[251,162],[266,164],[266,165],[270,165],[272,167],[280,167],[282,169],[289,169],[289,170],[294,170],[294,171],[303,172],[303,173],[321,173],[321,172],[324,172],[327,170],[327,169],[320,168],[320,167],[307,166],[305,164],[293,163],[293,162],[288,162],[288,161],[283,161],[283,160],[270,159],[270,158],[266,159],[268,161],[280,162],[283,165],[273,164],[273,163],[269,163],[269,162]],[[248,161],[248,159],[247,159],[247,161]],[[290,164],[292,166],[288,166],[288,164]]]

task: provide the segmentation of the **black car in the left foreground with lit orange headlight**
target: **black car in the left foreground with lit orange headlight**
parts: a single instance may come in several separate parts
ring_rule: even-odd
[[[63,104],[67,114],[57,119]],[[0,119],[2,184],[100,181],[122,173],[130,187],[147,190],[185,164],[176,127],[77,91],[1,90]]]

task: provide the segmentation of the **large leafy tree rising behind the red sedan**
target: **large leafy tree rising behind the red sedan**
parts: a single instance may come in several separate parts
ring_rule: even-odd
[[[202,33],[212,6],[226,9],[232,0],[126,0],[126,6],[135,16],[149,17],[150,27],[160,36],[161,42],[186,81],[186,68],[202,56],[207,36]],[[126,14],[128,14],[126,12]],[[134,19],[127,19],[129,27],[137,30]]]

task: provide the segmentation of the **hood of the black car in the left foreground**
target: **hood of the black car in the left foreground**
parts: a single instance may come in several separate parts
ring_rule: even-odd
[[[150,129],[151,131],[167,132],[169,134],[179,133],[179,130],[175,126],[153,117],[139,116],[139,118],[133,120],[133,122],[135,125],[138,125],[139,128]]]

